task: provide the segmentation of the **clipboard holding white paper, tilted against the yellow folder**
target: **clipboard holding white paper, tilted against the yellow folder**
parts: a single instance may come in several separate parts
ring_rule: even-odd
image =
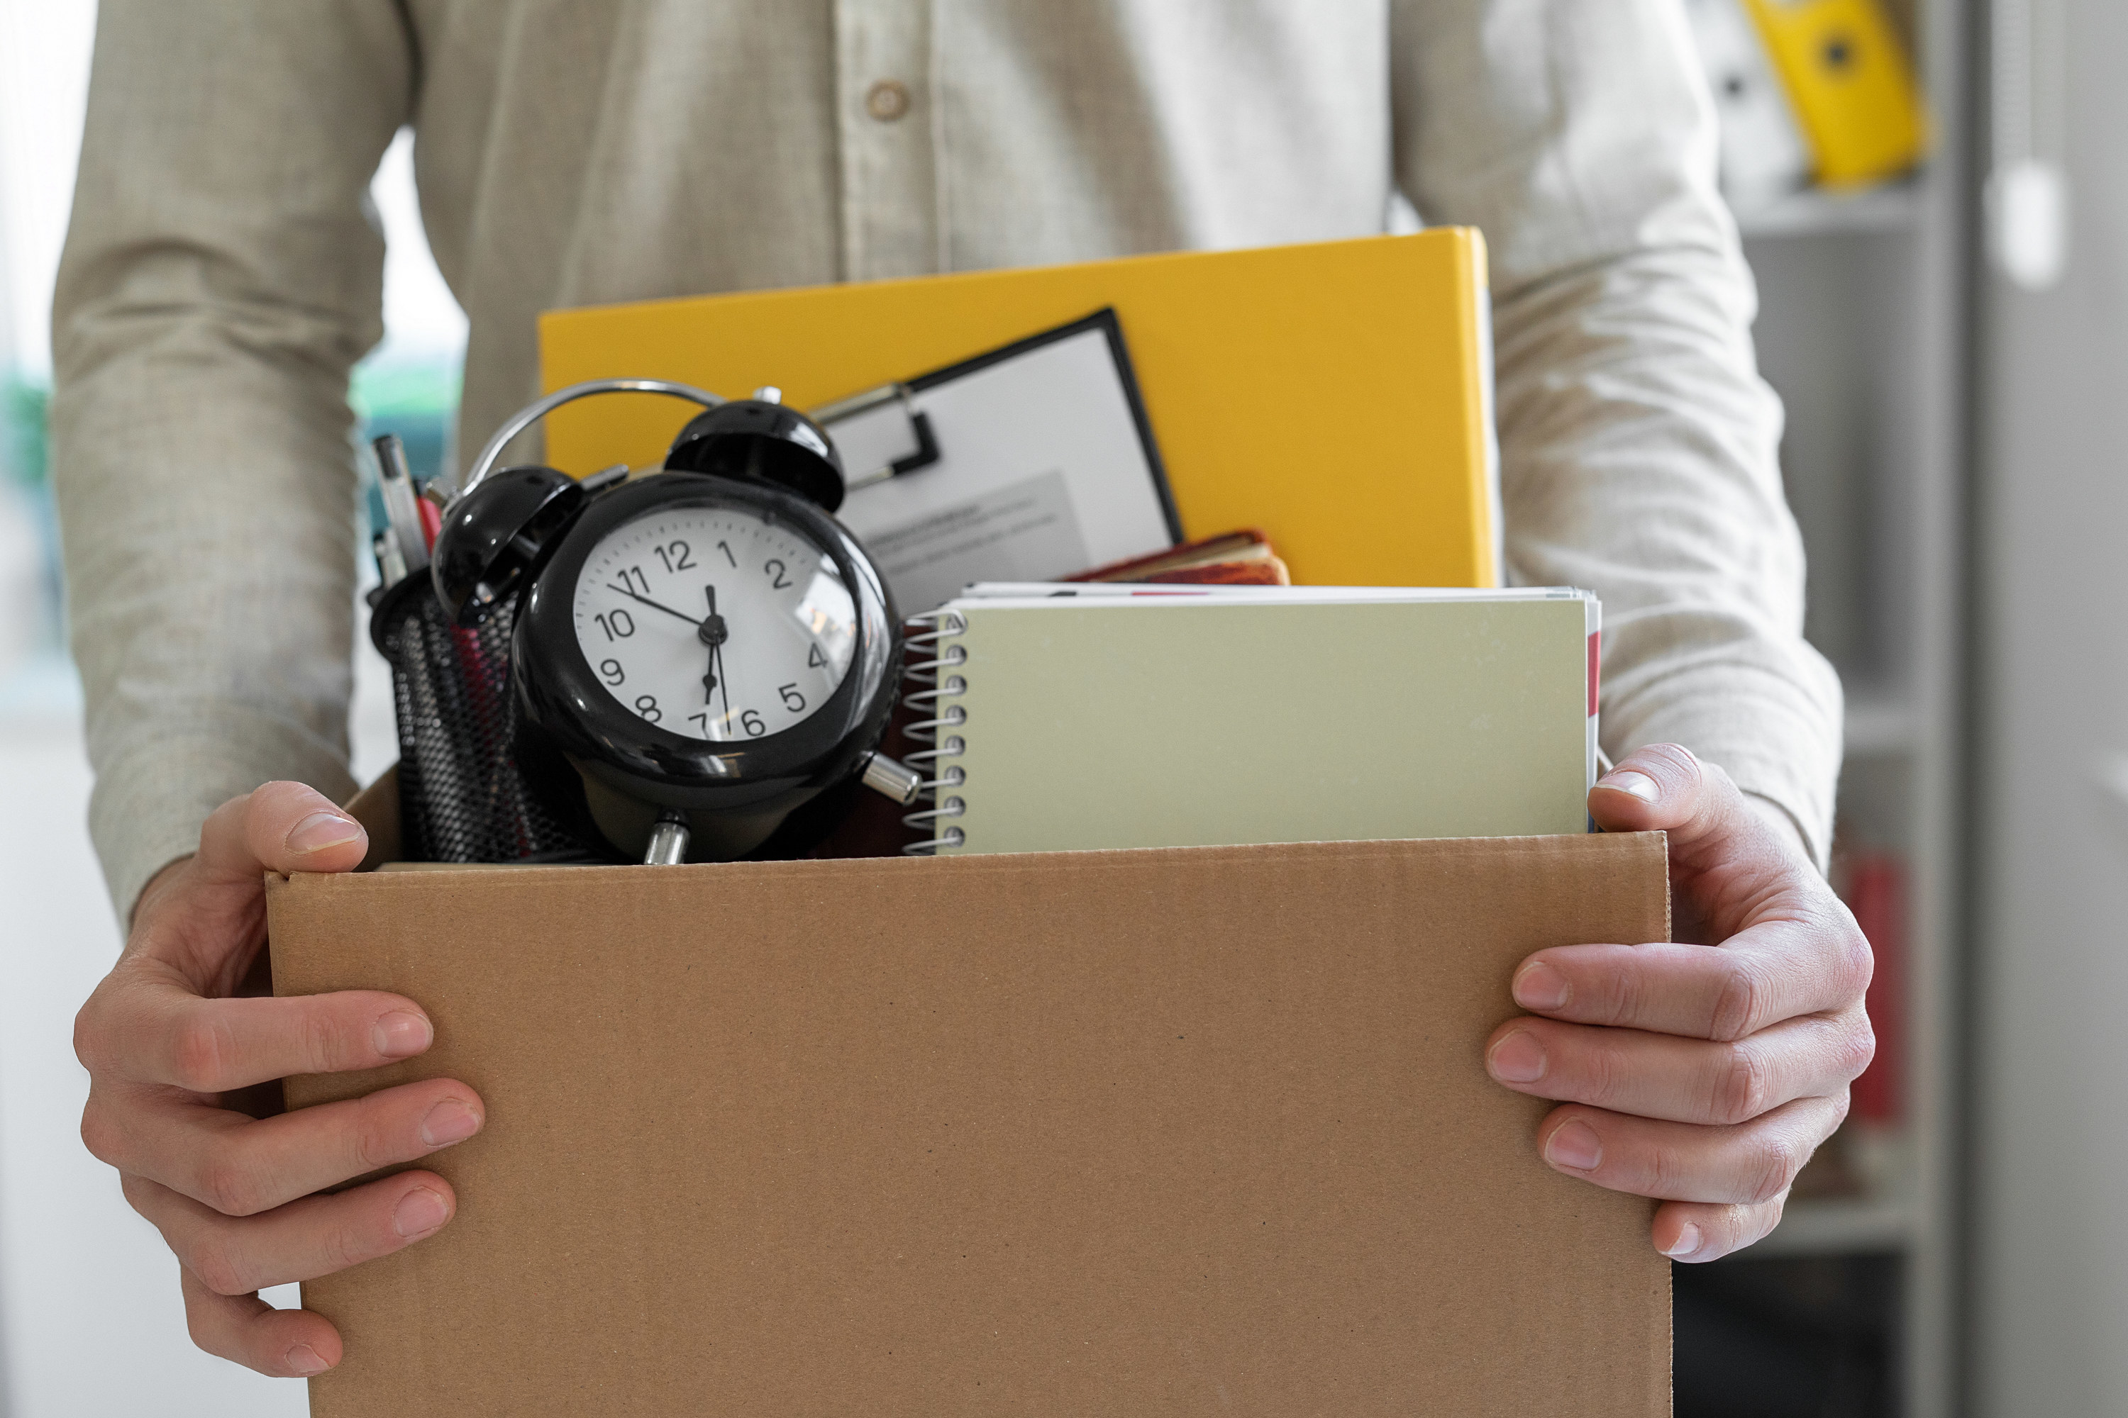
[[[836,517],[902,614],[972,580],[1055,580],[1181,540],[1111,310],[913,378],[907,398],[819,412],[849,480]]]

